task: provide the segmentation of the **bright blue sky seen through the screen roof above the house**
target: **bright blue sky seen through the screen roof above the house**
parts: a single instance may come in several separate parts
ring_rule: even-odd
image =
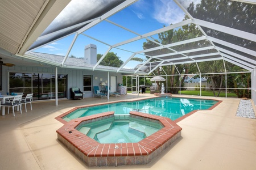
[[[173,1],[141,0],[135,2],[133,5],[125,8],[122,11],[119,11],[117,14],[111,16],[108,19],[114,23],[122,25],[122,27],[126,27],[131,31],[143,35],[144,33],[154,31],[155,29],[163,28],[164,25],[167,26],[181,22],[183,18],[184,12]],[[86,30],[84,34],[106,42],[109,45],[114,45],[118,42],[129,40],[138,36],[105,21]],[[64,39],[52,42],[51,44],[35,50],[35,52],[65,56],[69,46],[71,45],[73,37],[74,35],[71,35],[65,37]],[[155,39],[158,38],[157,35],[153,37]],[[119,46],[119,48],[126,49],[131,52],[137,52],[139,50],[143,50],[143,42],[146,42],[146,39]],[[71,52],[69,53],[69,56],[72,54],[76,57],[84,57],[84,47],[88,44],[96,44],[97,53],[100,54],[104,54],[106,50],[109,49],[109,46],[106,44],[102,44],[101,42],[90,39],[87,36],[79,35],[75,44],[73,45]],[[123,62],[125,62],[126,59],[133,54],[131,52],[126,52],[119,49],[112,49],[110,52],[117,53],[117,56],[120,57]],[[141,55],[137,55],[135,57],[145,58]],[[134,68],[138,64],[138,62],[130,61],[125,67]]]

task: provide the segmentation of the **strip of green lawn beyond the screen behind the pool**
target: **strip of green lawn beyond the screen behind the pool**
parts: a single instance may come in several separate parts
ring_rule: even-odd
[[[184,90],[181,91],[181,95],[200,95],[200,91],[196,90]],[[217,95],[217,92],[215,92],[215,95]],[[202,91],[202,96],[213,96],[212,91]],[[219,97],[226,97],[225,92],[221,92]],[[227,97],[237,97],[234,93],[227,93]]]

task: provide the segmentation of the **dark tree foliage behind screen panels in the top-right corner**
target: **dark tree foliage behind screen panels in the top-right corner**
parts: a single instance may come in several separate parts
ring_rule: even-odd
[[[224,25],[238,30],[256,33],[256,6],[250,3],[242,3],[229,0],[201,0],[195,5],[192,2],[187,8],[193,18]],[[255,50],[255,43],[241,39],[235,35],[229,35],[214,29],[202,27],[208,36]]]

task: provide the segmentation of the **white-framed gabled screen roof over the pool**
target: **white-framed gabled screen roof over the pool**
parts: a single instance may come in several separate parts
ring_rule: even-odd
[[[71,1],[29,50],[43,52],[65,40],[64,65],[68,56],[84,57],[84,46],[96,44],[102,58],[114,52],[123,60],[117,72],[130,68],[134,74],[218,59],[253,70],[255,12],[252,1]]]

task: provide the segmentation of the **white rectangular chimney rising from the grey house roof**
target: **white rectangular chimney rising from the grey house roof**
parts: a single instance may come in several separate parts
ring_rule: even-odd
[[[96,65],[97,63],[97,46],[96,45],[89,44],[85,46],[84,60],[86,63]]]

